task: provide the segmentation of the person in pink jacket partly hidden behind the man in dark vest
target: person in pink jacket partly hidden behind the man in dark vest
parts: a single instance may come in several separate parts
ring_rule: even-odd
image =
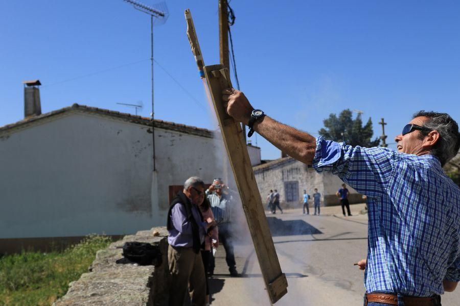
[[[199,205],[203,220],[208,221],[208,235],[204,238],[204,249],[201,249],[201,257],[203,259],[204,273],[206,276],[206,305],[209,305],[209,282],[208,282],[208,269],[211,256],[211,248],[219,246],[219,232],[214,220],[214,214],[211,210],[211,204],[207,198]],[[212,222],[209,222],[212,221]],[[215,241],[213,243],[213,240]]]

